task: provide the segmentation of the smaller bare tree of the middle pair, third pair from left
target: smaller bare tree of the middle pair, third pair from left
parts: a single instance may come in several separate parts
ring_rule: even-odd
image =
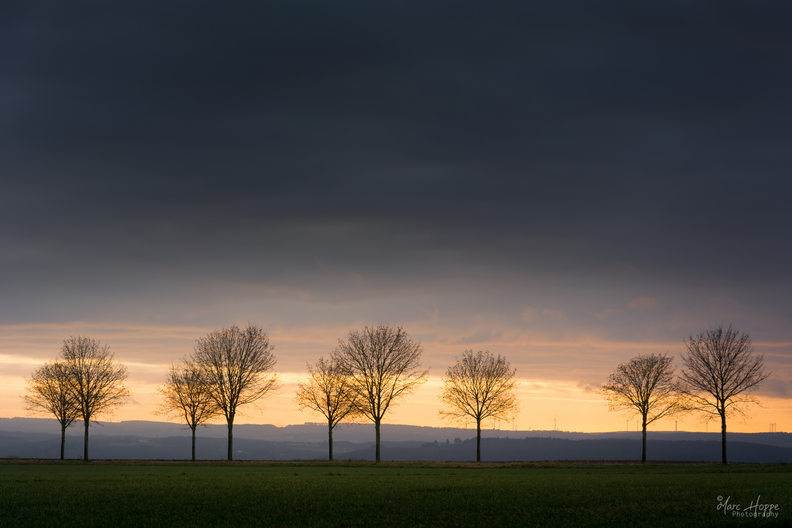
[[[305,408],[321,413],[327,419],[329,459],[333,460],[333,429],[341,420],[357,421],[360,417],[358,396],[350,386],[350,378],[332,361],[324,358],[310,364],[307,382],[297,384],[295,402],[299,410]]]

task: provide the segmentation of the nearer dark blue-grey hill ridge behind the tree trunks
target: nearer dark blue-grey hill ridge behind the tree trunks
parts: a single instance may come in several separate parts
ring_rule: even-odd
[[[335,458],[371,460],[374,443],[333,443]],[[135,435],[101,435],[90,438],[91,458],[185,459],[190,458],[186,436],[141,438]],[[792,462],[792,448],[759,443],[727,444],[730,462]],[[58,458],[59,435],[0,432],[0,457]],[[718,462],[721,443],[714,440],[648,440],[649,460]],[[67,458],[82,455],[82,436],[67,436]],[[226,439],[198,437],[196,456],[224,459]],[[327,443],[272,442],[234,439],[234,458],[246,460],[312,460],[327,458]],[[476,458],[475,439],[460,443],[383,442],[383,460],[471,461]],[[542,437],[482,439],[483,461],[543,460],[640,460],[641,442],[635,439],[558,439]]]

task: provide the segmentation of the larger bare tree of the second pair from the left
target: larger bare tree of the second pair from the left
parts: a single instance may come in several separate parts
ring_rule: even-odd
[[[209,395],[226,417],[228,460],[234,459],[234,417],[243,405],[255,402],[278,389],[272,372],[276,358],[269,337],[256,325],[209,332],[196,340],[189,363],[200,370]]]

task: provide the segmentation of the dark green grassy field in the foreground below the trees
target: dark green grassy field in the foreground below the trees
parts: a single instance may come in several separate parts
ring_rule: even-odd
[[[0,462],[3,527],[792,526],[790,495],[789,465]]]

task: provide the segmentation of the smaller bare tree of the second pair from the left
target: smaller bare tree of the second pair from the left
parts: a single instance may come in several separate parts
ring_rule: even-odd
[[[171,365],[165,383],[157,387],[157,393],[162,396],[162,401],[157,404],[154,414],[165,415],[169,420],[181,420],[192,430],[192,462],[195,462],[196,427],[205,427],[220,413],[204,376],[186,360],[181,365]]]

